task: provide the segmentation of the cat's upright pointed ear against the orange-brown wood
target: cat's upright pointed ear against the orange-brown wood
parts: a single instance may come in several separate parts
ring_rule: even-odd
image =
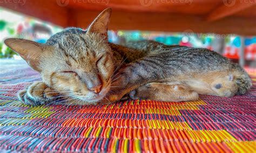
[[[107,38],[107,30],[109,27],[109,20],[111,16],[112,9],[107,8],[104,11],[102,11],[95,20],[91,23],[91,25],[88,27],[87,32],[97,32],[100,34],[103,34]]]

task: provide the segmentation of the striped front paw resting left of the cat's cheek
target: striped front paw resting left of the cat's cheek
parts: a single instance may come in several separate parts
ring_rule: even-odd
[[[18,98],[25,105],[38,106],[56,100],[56,95],[58,93],[44,84],[44,82],[34,82],[28,89],[20,91]]]

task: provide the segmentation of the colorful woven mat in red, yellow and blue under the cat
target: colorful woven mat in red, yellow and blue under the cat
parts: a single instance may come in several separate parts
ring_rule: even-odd
[[[233,98],[30,107],[16,93],[39,75],[10,65],[0,68],[0,152],[256,152],[255,79]]]

